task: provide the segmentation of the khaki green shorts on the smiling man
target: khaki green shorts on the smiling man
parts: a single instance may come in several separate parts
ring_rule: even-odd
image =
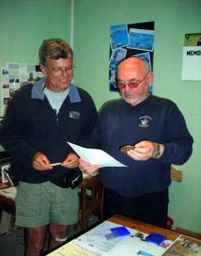
[[[17,187],[16,225],[42,227],[50,222],[75,224],[78,220],[78,189],[62,188],[53,183],[24,183]]]

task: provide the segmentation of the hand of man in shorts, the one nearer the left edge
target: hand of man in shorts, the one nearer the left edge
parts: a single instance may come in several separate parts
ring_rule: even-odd
[[[37,152],[32,160],[32,168],[37,171],[46,171],[52,169],[52,166],[50,166],[47,156],[42,152]]]

